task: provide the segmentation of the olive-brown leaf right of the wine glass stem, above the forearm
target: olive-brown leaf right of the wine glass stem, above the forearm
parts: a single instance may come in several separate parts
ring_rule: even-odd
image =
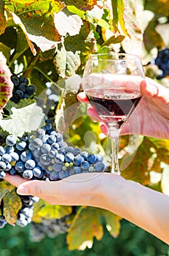
[[[144,138],[141,145],[138,147],[136,153],[131,156],[129,153],[125,154],[125,163],[123,165],[127,165],[126,168],[121,170],[122,176],[126,179],[130,179],[140,184],[146,185],[149,184],[150,176],[149,171],[151,170],[151,163],[149,162],[152,159],[152,151],[153,143],[148,138]],[[131,157],[133,157],[133,161],[131,162]],[[128,165],[127,161],[130,162]],[[119,160],[119,163],[122,162],[122,159]]]

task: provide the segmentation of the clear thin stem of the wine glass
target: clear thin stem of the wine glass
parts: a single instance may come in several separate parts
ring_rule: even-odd
[[[109,132],[111,138],[111,173],[120,174],[118,161],[120,129],[116,123],[111,123],[109,124]]]

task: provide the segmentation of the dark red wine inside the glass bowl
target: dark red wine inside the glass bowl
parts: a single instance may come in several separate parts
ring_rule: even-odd
[[[140,91],[122,88],[90,89],[86,94],[101,118],[114,121],[122,121],[130,116],[141,99]]]

